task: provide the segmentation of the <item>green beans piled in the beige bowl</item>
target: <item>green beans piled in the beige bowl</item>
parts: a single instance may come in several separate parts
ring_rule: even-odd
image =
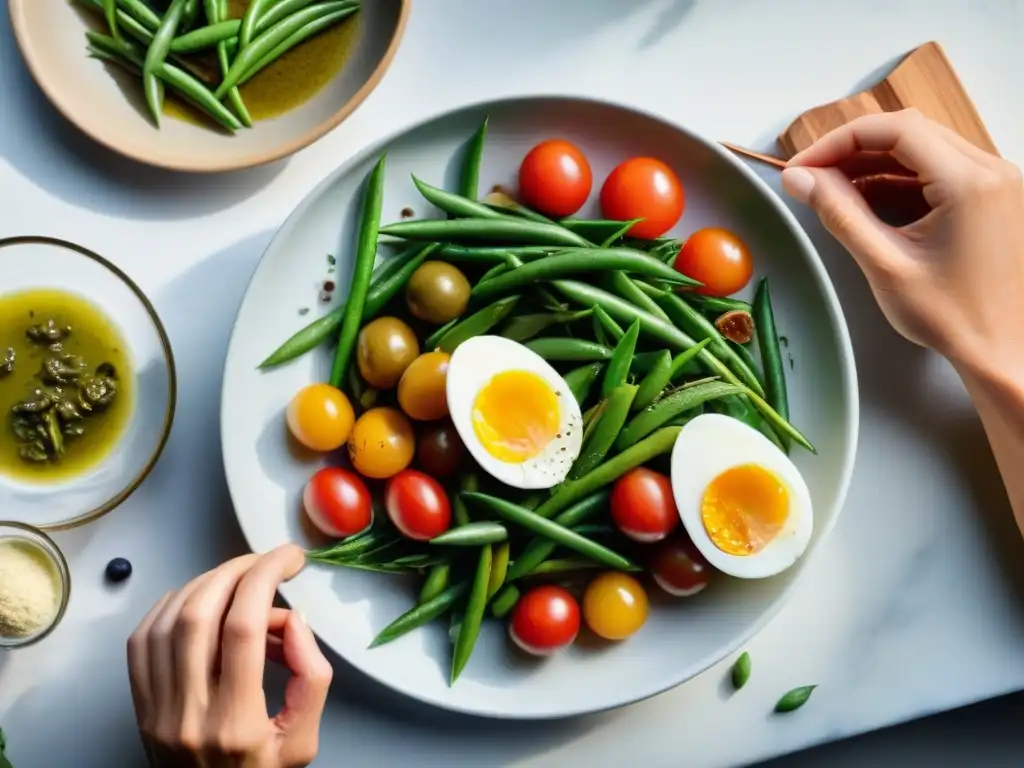
[[[86,34],[89,54],[141,77],[155,125],[169,87],[228,132],[252,127],[240,85],[361,8],[360,0],[253,0],[239,19],[228,17],[227,0],[203,0],[202,11],[199,0],[171,0],[162,14],[142,0],[77,2],[96,11],[109,33]],[[205,51],[216,54],[219,83],[197,77],[201,68],[187,58]]]

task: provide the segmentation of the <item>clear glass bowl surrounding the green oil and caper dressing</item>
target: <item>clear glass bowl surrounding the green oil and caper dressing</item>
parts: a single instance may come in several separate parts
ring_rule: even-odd
[[[177,396],[170,340],[142,290],[81,246],[41,237],[0,240],[0,301],[27,291],[75,294],[99,310],[127,347],[132,410],[104,455],[80,473],[51,481],[0,471],[0,514],[5,519],[45,530],[81,525],[131,496],[164,450]],[[0,342],[2,337],[0,329]],[[0,429],[8,428],[7,420],[8,414],[0,414]]]

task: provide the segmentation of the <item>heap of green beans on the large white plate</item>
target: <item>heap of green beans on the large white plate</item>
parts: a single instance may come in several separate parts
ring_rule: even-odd
[[[258,14],[262,5],[257,0],[250,9]],[[217,34],[226,36],[226,23],[217,25]],[[258,29],[247,16],[230,31],[245,48],[256,45]],[[173,40],[191,44],[187,35]],[[262,48],[250,50],[257,52],[240,55],[232,67],[244,69]],[[215,95],[237,82],[225,78]],[[699,284],[670,265],[678,242],[631,240],[635,222],[555,221],[504,195],[479,201],[486,132],[483,121],[463,150],[458,193],[412,179],[444,218],[382,224],[380,159],[362,193],[345,303],[300,329],[260,366],[271,369],[333,344],[330,383],[341,387],[353,376],[362,326],[381,313],[402,314],[399,294],[426,260],[438,259],[465,269],[470,301],[461,316],[423,330],[421,349],[451,353],[468,339],[497,334],[560,369],[584,414],[583,439],[566,479],[550,493],[506,498],[511,488],[467,472],[449,488],[453,526],[429,542],[410,542],[386,523],[375,524],[308,555],[314,562],[418,578],[417,604],[381,630],[372,647],[446,615],[452,683],[469,663],[488,609],[499,618],[514,609],[520,580],[595,567],[639,570],[615,549],[610,485],[671,453],[682,425],[706,408],[760,429],[780,446],[814,450],[788,422],[767,281],[753,305],[699,296],[689,292]],[[404,250],[374,271],[378,250],[396,242]],[[737,309],[755,318],[758,355],[715,325]]]

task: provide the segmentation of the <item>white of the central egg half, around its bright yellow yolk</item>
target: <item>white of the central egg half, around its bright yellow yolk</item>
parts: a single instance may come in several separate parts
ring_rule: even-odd
[[[473,429],[473,403],[495,376],[527,371],[548,383],[558,399],[558,437],[521,464],[493,456]],[[502,336],[477,336],[460,344],[449,362],[449,412],[459,437],[476,463],[495,479],[516,488],[550,488],[565,479],[583,444],[583,416],[565,380],[537,352]]]

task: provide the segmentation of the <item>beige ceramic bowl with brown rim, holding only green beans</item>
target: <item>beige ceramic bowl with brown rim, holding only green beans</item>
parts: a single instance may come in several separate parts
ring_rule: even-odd
[[[213,172],[269,163],[312,143],[348,117],[394,57],[412,0],[364,3],[355,50],[312,98],[281,117],[227,135],[206,126],[150,121],[137,78],[89,58],[96,18],[69,0],[8,0],[14,36],[32,76],[71,122],[115,152],[148,165]]]

